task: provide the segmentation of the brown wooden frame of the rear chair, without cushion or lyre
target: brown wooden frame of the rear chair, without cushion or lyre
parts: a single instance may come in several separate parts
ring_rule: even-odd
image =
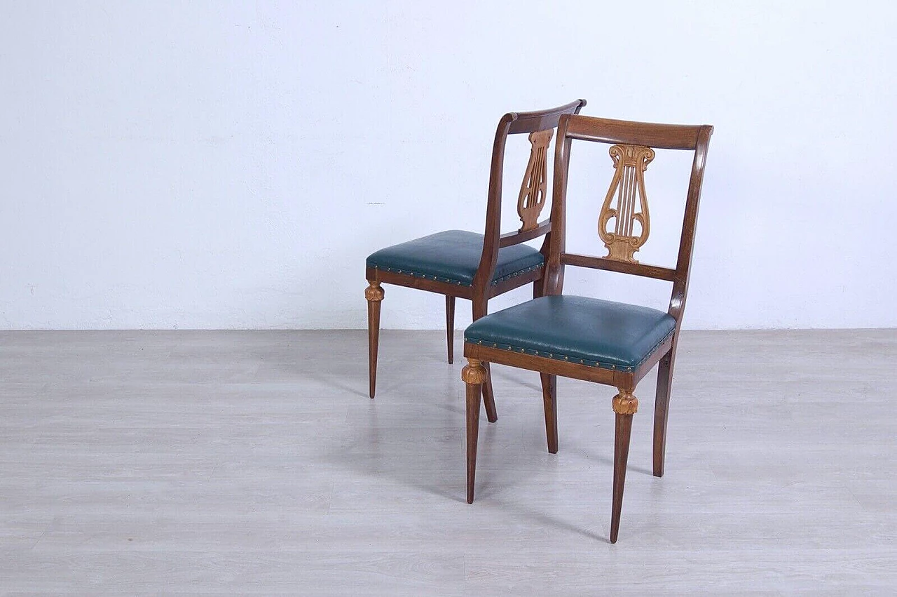
[[[374,398],[377,384],[377,352],[379,347],[379,320],[380,303],[383,301],[384,292],[381,284],[392,284],[426,290],[431,293],[445,294],[446,296],[446,335],[448,344],[448,363],[454,362],[454,333],[455,333],[455,299],[463,298],[473,302],[473,318],[477,320],[488,312],[488,302],[493,296],[504,294],[509,290],[522,285],[535,283],[533,295],[539,296],[543,278],[543,268],[536,268],[517,277],[502,280],[497,285],[492,285],[492,276],[495,272],[495,264],[498,259],[499,249],[509,247],[521,242],[531,241],[545,235],[542,245],[542,254],[547,262],[549,239],[551,238],[551,218],[539,222],[535,228],[525,232],[501,233],[501,187],[504,173],[505,145],[509,135],[524,133],[537,133],[546,129],[553,129],[563,115],[579,114],[586,105],[585,100],[571,101],[563,106],[550,110],[536,110],[530,112],[509,112],[501,117],[495,131],[495,141],[492,144],[492,168],[489,174],[489,190],[486,201],[486,226],[483,239],[483,254],[479,267],[476,270],[474,283],[470,286],[449,284],[438,280],[428,280],[414,275],[398,274],[378,268],[366,268],[365,276],[368,279],[368,288],[365,297],[368,300],[368,364],[370,374],[370,398]],[[528,173],[528,172],[527,172]],[[483,364],[488,368],[488,363]],[[492,394],[492,382],[483,384],[483,403],[490,422],[498,420],[495,411],[495,400]]]

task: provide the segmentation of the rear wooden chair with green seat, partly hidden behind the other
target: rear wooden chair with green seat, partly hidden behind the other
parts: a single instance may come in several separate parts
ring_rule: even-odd
[[[485,234],[449,230],[414,241],[403,242],[372,253],[367,259],[368,356],[370,398],[377,382],[377,348],[380,328],[381,284],[395,284],[427,290],[446,296],[446,332],[448,363],[454,362],[455,299],[474,303],[474,320],[487,312],[493,296],[531,282],[542,280],[547,237],[542,250],[525,244],[543,234],[549,235],[549,220],[537,222],[547,196],[547,154],[553,129],[563,114],[579,114],[585,100],[572,101],[551,110],[510,112],[499,120],[492,145],[492,169],[486,203]],[[523,184],[518,194],[518,214],[523,225],[517,232],[501,234],[501,179],[505,144],[509,135],[529,133],[532,145]],[[534,293],[541,285],[534,284]],[[484,363],[483,367],[488,367]],[[483,384],[483,402],[489,420],[497,420],[490,382]]]

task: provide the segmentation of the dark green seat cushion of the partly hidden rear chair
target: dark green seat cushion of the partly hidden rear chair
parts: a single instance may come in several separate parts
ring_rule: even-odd
[[[483,256],[483,234],[447,230],[371,253],[368,268],[473,285]],[[518,244],[499,250],[492,284],[541,268],[542,253]]]

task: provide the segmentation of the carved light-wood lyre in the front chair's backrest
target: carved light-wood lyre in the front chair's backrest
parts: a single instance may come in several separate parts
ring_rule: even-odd
[[[654,159],[654,150],[644,145],[614,145],[609,153],[614,160],[614,179],[601,206],[598,236],[607,247],[605,259],[638,263],[634,258],[635,251],[648,240],[651,227],[645,171]],[[616,206],[611,207],[614,197]],[[616,222],[614,230],[608,231],[607,223],[611,218]],[[634,222],[641,226],[638,235],[632,233]]]

